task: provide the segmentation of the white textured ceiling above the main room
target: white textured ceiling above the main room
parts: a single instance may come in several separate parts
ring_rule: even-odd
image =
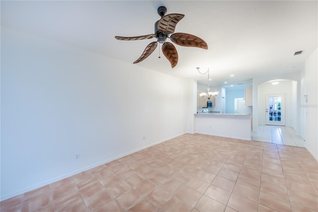
[[[211,86],[229,86],[300,71],[317,48],[317,1],[1,1],[1,25],[132,63],[155,39],[114,36],[153,33],[161,5],[185,14],[176,32],[199,36],[209,49],[175,45],[179,61],[171,69],[157,48],[136,66],[201,84],[207,76],[195,68],[210,68]],[[305,52],[294,56],[298,50]]]

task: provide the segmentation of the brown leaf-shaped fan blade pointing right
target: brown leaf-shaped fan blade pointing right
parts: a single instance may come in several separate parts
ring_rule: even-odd
[[[187,47],[198,47],[202,49],[208,49],[208,45],[206,42],[191,34],[177,32],[170,36],[170,39],[175,44],[178,44],[179,46],[187,46]]]

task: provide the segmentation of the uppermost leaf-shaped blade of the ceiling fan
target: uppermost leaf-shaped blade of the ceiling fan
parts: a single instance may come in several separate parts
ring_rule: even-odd
[[[175,32],[177,23],[184,17],[183,14],[172,13],[163,16],[158,22],[158,30],[165,34],[172,34]]]

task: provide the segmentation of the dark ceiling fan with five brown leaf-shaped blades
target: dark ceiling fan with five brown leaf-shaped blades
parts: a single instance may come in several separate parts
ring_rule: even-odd
[[[152,39],[156,38],[157,41],[151,42],[143,51],[142,55],[134,62],[139,63],[142,60],[145,60],[151,53],[155,51],[157,48],[157,42],[163,44],[162,45],[162,53],[171,63],[171,67],[175,67],[178,63],[178,52],[176,47],[170,43],[166,42],[167,38],[169,38],[173,43],[179,46],[187,46],[187,47],[198,47],[202,49],[208,49],[208,45],[206,42],[191,34],[175,32],[176,24],[184,17],[183,14],[172,13],[165,15],[167,12],[167,8],[164,6],[160,6],[158,8],[158,14],[161,16],[161,19],[155,23],[155,33],[149,35],[135,36],[135,37],[121,37],[115,36],[117,40],[144,40],[144,39]],[[172,34],[173,33],[173,34]],[[171,35],[170,35],[171,34]],[[170,36],[169,36],[170,35]]]

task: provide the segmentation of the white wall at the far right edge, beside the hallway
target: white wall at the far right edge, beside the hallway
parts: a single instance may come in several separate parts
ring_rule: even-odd
[[[305,103],[305,123],[306,123],[306,148],[314,157],[318,157],[318,87],[317,87],[317,49],[305,61],[305,95],[308,95],[308,102]]]

